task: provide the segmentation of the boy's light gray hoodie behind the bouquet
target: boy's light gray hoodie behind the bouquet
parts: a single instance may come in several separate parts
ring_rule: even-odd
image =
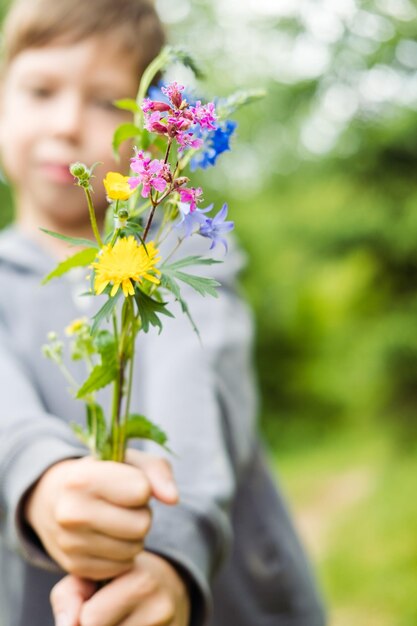
[[[203,244],[197,238],[186,253],[204,253]],[[20,509],[48,467],[87,453],[69,425],[83,423],[84,407],[41,346],[49,331],[62,334],[94,314],[97,299],[80,297],[76,271],[42,287],[53,266],[15,227],[0,233],[0,626],[53,625],[48,596],[62,572]],[[138,340],[132,407],[167,431],[181,494],[176,507],[152,505],[146,548],[188,574],[195,625],[323,626],[309,565],[255,436],[252,321],[235,285],[241,266],[233,248],[215,266],[218,299],[186,294],[202,344],[175,304],[161,335]],[[83,380],[82,364],[70,366]],[[108,406],[107,390],[100,400]]]

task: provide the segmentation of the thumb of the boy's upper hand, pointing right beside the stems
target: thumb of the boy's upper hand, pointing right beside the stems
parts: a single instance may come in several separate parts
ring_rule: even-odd
[[[130,448],[126,462],[141,469],[152,489],[152,495],[164,504],[177,504],[179,494],[171,464],[161,457]]]

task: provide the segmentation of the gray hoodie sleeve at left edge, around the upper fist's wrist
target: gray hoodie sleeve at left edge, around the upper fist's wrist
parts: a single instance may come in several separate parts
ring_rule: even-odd
[[[31,564],[57,566],[25,526],[27,491],[54,463],[86,454],[71,428],[48,415],[14,353],[0,319],[0,533]]]

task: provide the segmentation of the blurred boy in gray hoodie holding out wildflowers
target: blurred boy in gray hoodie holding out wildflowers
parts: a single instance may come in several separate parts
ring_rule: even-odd
[[[53,595],[59,626],[201,625],[211,592],[216,626],[324,623],[254,435],[251,321],[235,293],[236,250],[220,266],[218,300],[187,295],[203,350],[179,312],[139,346],[132,405],[168,432],[177,506],[165,506],[176,491],[162,462],[137,450],[131,465],[85,458],[68,425],[83,408],[40,356],[48,331],[92,311],[74,278],[39,286],[51,257],[68,250],[38,227],[90,236],[68,174],[75,160],[103,163],[102,223],[100,181],[129,156],[125,146],[121,166],[113,162],[112,133],[127,114],[112,102],[134,97],[162,43],[145,0],[17,0],[6,23],[0,143],[16,225],[0,238],[2,626],[51,626],[48,595],[62,570],[71,576]],[[190,254],[206,250],[204,241],[188,245]],[[85,579],[108,578],[89,599],[96,587]]]

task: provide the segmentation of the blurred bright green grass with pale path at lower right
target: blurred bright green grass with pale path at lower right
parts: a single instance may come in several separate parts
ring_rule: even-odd
[[[414,624],[415,451],[399,454],[376,426],[344,428],[320,446],[281,452],[276,465],[296,516],[310,521],[302,528],[329,623]]]

